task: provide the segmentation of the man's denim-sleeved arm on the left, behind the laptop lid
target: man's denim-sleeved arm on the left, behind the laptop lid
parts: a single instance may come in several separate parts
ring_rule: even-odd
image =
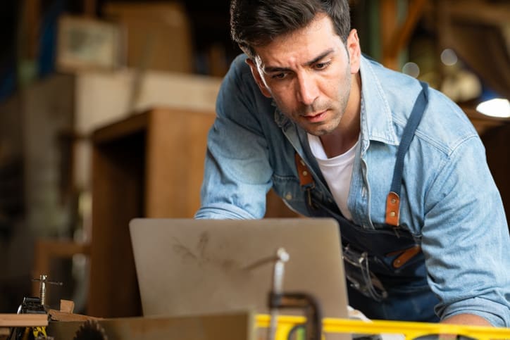
[[[252,80],[245,58],[233,61],[220,87],[195,218],[262,218],[266,210],[272,169],[259,119],[268,115],[265,103],[270,112],[274,108]]]

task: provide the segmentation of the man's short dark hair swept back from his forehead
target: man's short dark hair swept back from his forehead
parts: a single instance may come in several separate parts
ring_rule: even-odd
[[[230,34],[244,53],[254,57],[255,46],[305,27],[318,13],[329,15],[346,42],[351,30],[347,0],[232,0]]]

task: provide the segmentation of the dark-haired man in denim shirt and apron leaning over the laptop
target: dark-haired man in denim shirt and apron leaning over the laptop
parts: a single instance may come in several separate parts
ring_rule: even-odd
[[[272,187],[340,224],[374,319],[510,327],[510,241],[485,150],[445,96],[361,55],[345,0],[233,0],[232,63],[196,218],[262,218]]]

